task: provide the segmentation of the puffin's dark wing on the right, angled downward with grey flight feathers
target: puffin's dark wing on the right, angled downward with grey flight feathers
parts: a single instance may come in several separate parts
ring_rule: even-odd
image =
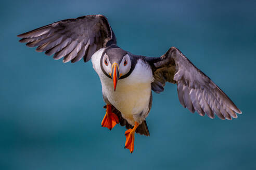
[[[214,118],[214,113],[220,119],[232,120],[241,114],[236,105],[216,84],[177,48],[171,47],[160,58],[145,58],[150,64],[155,80],[152,90],[160,93],[165,82],[177,83],[178,99],[191,112],[199,115],[207,114]]]

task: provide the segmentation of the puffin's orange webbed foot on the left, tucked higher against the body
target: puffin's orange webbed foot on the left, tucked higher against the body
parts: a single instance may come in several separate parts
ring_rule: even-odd
[[[101,122],[101,126],[108,127],[111,130],[117,123],[119,123],[117,115],[112,112],[111,105],[107,104],[107,111]]]

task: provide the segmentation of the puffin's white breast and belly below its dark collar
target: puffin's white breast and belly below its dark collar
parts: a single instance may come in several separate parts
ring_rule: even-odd
[[[116,107],[130,124],[134,124],[137,115],[146,115],[149,111],[151,95],[152,71],[148,64],[139,60],[133,72],[126,78],[118,80],[116,91],[113,80],[107,77],[100,68],[100,58],[103,50],[92,56],[93,67],[98,73],[103,95]],[[141,118],[145,119],[145,117]],[[141,122],[142,120],[135,120]]]

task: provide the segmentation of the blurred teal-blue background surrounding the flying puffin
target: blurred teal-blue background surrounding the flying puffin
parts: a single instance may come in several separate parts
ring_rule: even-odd
[[[153,94],[150,137],[123,149],[125,128],[100,126],[92,63],[63,64],[16,37],[91,14],[105,15],[134,54],[179,48],[243,114],[191,114],[168,83]],[[1,1],[0,21],[0,169],[256,169],[255,1]]]

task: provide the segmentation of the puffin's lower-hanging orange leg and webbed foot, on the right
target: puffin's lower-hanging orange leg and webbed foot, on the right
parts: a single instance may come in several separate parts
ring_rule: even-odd
[[[124,148],[129,149],[131,153],[134,150],[134,139],[135,139],[134,134],[135,134],[135,131],[136,131],[138,125],[139,125],[139,123],[135,121],[135,125],[134,125],[133,129],[129,129],[129,130],[125,131],[125,133],[124,133],[124,135],[126,137]]]

